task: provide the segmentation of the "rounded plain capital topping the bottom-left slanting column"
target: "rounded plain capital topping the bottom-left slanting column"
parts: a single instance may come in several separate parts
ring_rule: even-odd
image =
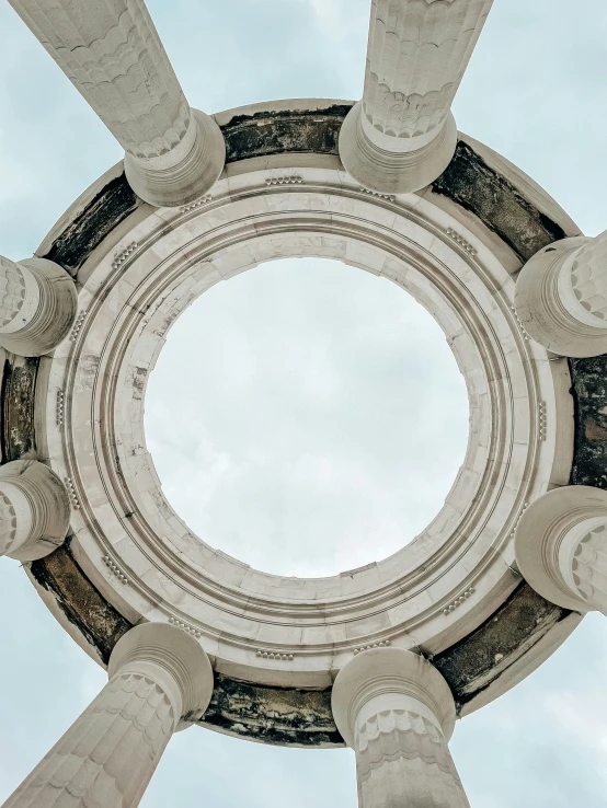
[[[141,623],[124,634],[116,643],[107,672],[146,676],[153,666],[154,681],[163,678],[163,688],[173,692],[179,688],[180,728],[198,720],[213,695],[213,668],[201,644],[185,632],[168,623]],[[176,694],[174,694],[176,695]]]

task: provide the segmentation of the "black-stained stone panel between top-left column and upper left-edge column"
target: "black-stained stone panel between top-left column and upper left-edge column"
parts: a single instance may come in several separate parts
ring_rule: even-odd
[[[57,236],[43,257],[76,275],[92,251],[141,205],[125,174],[112,180]]]

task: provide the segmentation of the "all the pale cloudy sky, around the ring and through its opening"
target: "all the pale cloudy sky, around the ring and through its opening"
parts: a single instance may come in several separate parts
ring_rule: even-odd
[[[149,7],[194,106],[360,95],[369,0]],[[495,0],[455,114],[595,234],[607,227],[607,8],[574,10]],[[5,2],[0,34],[0,252],[19,259],[121,150]],[[186,378],[193,339],[214,348]],[[146,418],[167,495],[191,526],[299,575],[409,541],[440,507],[467,426],[461,379],[425,312],[387,281],[318,261],[267,265],[204,296],[171,332]],[[105,677],[9,559],[0,603],[1,801]],[[472,808],[605,808],[606,674],[607,621],[592,615],[541,670],[460,723],[453,751]],[[171,741],[141,805],[285,800],[354,808],[352,753],[192,729]]]

